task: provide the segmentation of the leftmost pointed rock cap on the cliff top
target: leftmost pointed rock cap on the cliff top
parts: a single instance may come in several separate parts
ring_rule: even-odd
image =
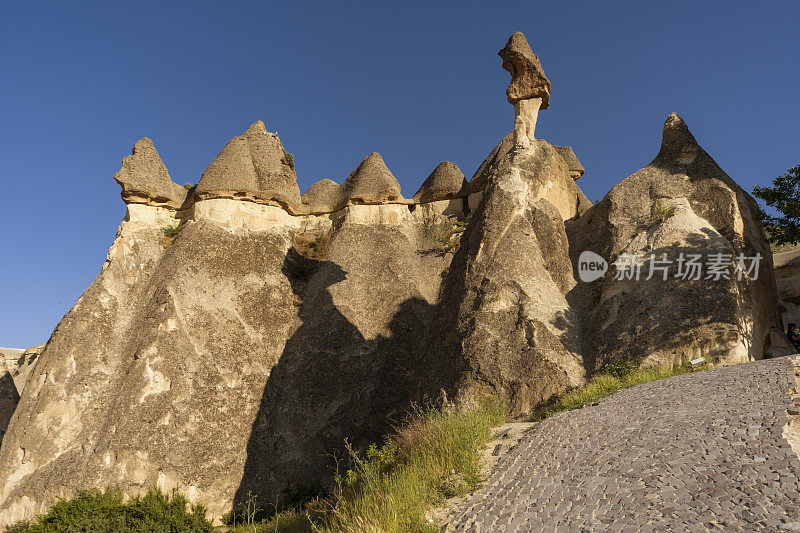
[[[170,179],[153,141],[147,137],[136,141],[131,155],[122,160],[122,168],[114,174],[114,180],[122,186],[126,204],[180,209],[188,193]]]

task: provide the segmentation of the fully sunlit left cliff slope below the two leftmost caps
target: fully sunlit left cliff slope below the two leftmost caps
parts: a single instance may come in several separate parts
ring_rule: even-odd
[[[162,227],[141,213],[122,223],[31,371],[0,449],[2,523],[114,484],[180,485],[215,516],[230,508],[270,370],[300,323],[281,273],[291,235],[188,222],[165,249]]]

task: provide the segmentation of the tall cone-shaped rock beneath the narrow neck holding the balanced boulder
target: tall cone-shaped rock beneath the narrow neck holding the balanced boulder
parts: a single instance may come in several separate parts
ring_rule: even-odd
[[[419,381],[428,397],[488,389],[522,415],[585,379],[566,297],[575,281],[563,219],[576,204],[563,203],[574,183],[547,142],[501,150],[450,265]]]

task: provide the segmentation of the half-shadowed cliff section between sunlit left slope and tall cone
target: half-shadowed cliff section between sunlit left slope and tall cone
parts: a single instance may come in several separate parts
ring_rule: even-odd
[[[408,410],[449,259],[422,253],[441,246],[444,219],[398,222],[345,219],[324,259],[287,256],[301,324],[264,389],[237,502],[329,481],[345,438],[363,451]]]

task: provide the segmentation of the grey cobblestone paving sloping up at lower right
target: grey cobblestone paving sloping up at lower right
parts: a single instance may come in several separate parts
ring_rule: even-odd
[[[794,372],[788,358],[723,367],[555,415],[448,531],[800,531]]]

